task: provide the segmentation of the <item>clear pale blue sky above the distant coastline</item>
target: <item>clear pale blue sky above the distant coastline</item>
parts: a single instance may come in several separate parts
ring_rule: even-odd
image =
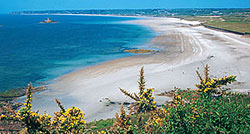
[[[0,0],[0,13],[142,8],[250,8],[250,0]]]

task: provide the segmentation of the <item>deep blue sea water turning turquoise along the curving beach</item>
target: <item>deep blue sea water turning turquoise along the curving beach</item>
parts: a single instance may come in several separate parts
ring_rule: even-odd
[[[50,17],[59,23],[40,24]],[[128,17],[0,15],[0,91],[131,56],[155,33]],[[121,23],[122,22],[122,23]]]

